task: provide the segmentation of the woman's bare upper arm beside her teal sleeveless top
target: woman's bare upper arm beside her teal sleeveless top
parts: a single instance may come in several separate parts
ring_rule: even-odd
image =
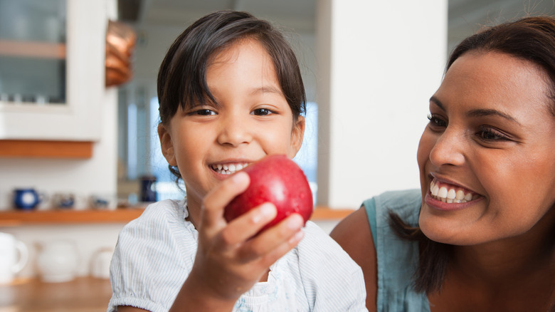
[[[329,235],[361,267],[364,284],[366,284],[366,308],[370,312],[376,311],[378,291],[376,247],[364,207],[345,217]]]

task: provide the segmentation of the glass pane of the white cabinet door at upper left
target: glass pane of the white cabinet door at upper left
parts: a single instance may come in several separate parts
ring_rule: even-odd
[[[65,0],[0,0],[0,100],[65,104]]]

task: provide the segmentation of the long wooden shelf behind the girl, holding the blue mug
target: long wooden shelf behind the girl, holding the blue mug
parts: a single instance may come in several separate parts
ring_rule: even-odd
[[[144,207],[115,210],[11,210],[0,212],[0,227],[18,227],[31,224],[102,224],[127,223],[139,217]],[[317,207],[313,221],[339,220],[353,212],[352,209]]]

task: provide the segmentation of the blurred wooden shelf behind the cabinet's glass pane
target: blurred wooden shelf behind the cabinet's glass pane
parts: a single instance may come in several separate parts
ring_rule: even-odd
[[[65,59],[64,43],[0,40],[0,56]]]

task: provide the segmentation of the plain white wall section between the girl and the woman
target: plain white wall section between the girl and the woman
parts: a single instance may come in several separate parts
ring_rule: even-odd
[[[318,202],[418,188],[416,150],[445,65],[447,0],[319,0]]]

